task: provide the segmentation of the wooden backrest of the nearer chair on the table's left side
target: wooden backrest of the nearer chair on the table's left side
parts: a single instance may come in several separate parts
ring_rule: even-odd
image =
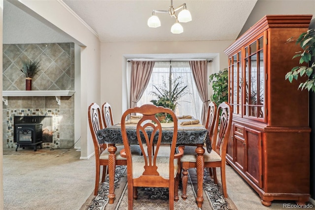
[[[96,132],[100,129],[103,129],[102,119],[100,115],[100,107],[96,103],[92,103],[88,108],[88,120],[89,120],[89,126],[90,131],[94,143],[94,149],[95,149],[95,158],[96,161],[99,159],[99,155],[101,153],[101,146],[98,143]]]

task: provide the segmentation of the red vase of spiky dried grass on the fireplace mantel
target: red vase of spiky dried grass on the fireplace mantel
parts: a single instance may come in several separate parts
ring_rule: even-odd
[[[39,71],[39,61],[22,61],[21,71],[25,74],[25,90],[32,90],[32,77]]]

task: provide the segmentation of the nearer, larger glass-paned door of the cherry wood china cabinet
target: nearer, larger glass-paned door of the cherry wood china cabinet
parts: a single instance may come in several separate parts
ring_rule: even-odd
[[[264,113],[264,50],[263,36],[245,46],[244,117],[263,120]]]

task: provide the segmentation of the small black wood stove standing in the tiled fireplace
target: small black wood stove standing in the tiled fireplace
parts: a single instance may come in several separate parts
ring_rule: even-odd
[[[16,149],[20,146],[23,149],[28,147],[33,147],[34,151],[37,150],[37,146],[39,145],[42,148],[41,143],[43,137],[42,131],[42,124],[41,123],[20,123],[15,125],[15,134],[16,134]]]

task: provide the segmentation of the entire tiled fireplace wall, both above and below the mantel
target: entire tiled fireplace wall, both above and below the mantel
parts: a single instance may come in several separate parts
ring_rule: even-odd
[[[74,95],[14,95],[25,92],[22,60],[40,61],[32,91],[74,90],[74,43],[3,44],[2,97],[3,147],[15,148],[14,115],[53,117],[53,142],[43,147],[68,148],[74,140]],[[27,91],[27,92],[32,92]],[[33,92],[33,93],[34,93]],[[58,98],[56,98],[58,97]],[[57,100],[57,102],[56,102]]]

